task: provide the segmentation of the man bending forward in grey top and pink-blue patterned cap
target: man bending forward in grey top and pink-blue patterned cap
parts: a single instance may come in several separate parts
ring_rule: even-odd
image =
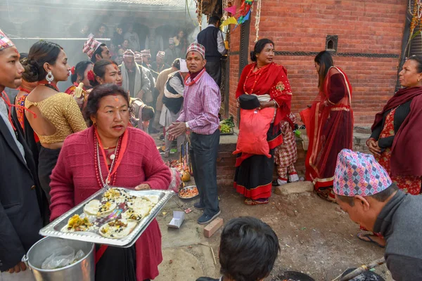
[[[385,237],[385,261],[396,281],[422,279],[422,197],[405,194],[372,155],[342,150],[335,199],[350,219]]]

